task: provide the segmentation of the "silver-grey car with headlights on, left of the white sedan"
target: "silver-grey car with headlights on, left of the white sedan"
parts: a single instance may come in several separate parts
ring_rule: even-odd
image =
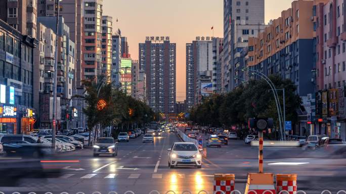
[[[100,154],[118,155],[118,143],[113,138],[99,138],[94,147],[94,157]]]

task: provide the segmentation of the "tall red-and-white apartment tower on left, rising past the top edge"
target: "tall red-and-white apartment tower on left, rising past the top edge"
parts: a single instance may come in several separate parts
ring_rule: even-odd
[[[82,80],[102,73],[102,0],[83,1]]]

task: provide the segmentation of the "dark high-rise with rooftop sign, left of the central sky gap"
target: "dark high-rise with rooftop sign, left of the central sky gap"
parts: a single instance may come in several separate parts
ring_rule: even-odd
[[[169,37],[147,37],[145,43],[139,43],[139,63],[146,74],[149,106],[157,112],[174,113],[176,43]]]

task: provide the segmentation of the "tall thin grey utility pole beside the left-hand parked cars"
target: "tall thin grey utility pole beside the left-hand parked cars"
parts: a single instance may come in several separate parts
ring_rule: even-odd
[[[53,79],[53,133],[52,133],[52,148],[55,150],[55,133],[56,133],[56,118],[57,118],[57,74],[58,74],[58,32],[59,32],[59,9],[60,0],[57,1],[57,29],[55,38],[55,62],[54,62],[54,79]],[[54,4],[55,5],[55,4]]]

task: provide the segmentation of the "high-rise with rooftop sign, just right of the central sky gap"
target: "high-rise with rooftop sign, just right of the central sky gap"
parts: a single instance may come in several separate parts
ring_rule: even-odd
[[[211,78],[210,73],[206,72],[212,71],[212,57],[211,40],[195,40],[186,44],[186,100],[188,108],[196,104],[201,95],[209,95],[212,92],[210,92],[210,88],[206,93],[211,80],[207,82],[206,78],[203,78],[204,92],[201,91],[202,87],[198,86],[200,76],[204,77],[207,74],[209,75],[208,78]]]

